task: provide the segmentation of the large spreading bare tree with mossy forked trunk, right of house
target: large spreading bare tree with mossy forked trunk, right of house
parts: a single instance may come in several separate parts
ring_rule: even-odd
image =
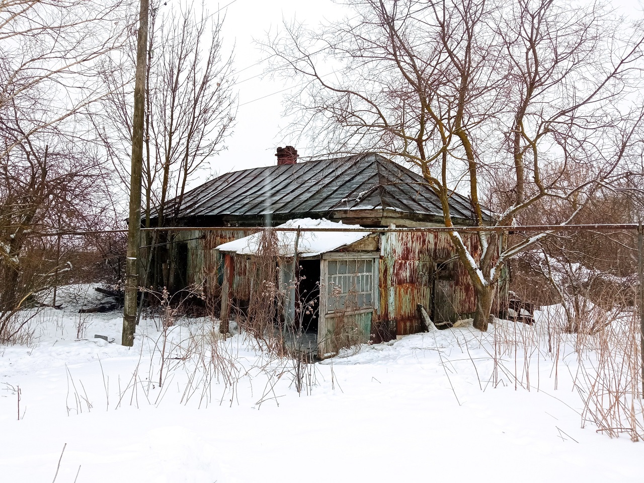
[[[265,44],[273,71],[300,77],[293,123],[319,149],[379,151],[415,166],[453,226],[455,191],[483,226],[556,199],[570,223],[641,162],[643,33],[597,3],[555,0],[350,0],[355,16],[290,23]],[[639,173],[641,175],[641,173]],[[641,178],[636,180],[641,183]],[[499,196],[498,191],[503,196]],[[498,200],[504,198],[504,203]],[[450,232],[487,330],[500,267],[539,240]]]

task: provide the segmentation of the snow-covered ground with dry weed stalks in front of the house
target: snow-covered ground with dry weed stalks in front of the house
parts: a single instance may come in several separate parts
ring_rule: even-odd
[[[581,428],[571,348],[556,366],[530,344],[495,365],[495,330],[538,325],[362,346],[308,366],[299,395],[293,363],[243,334],[213,341],[205,319],[169,331],[159,387],[158,317],[125,348],[120,314],[81,303],[41,312],[30,344],[0,346],[2,482],[52,481],[59,460],[55,481],[70,483],[644,481],[642,444]]]

